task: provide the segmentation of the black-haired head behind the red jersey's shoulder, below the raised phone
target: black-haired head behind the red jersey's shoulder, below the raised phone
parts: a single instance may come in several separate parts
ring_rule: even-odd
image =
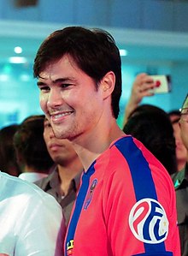
[[[150,104],[138,106],[129,116],[123,131],[140,140],[169,174],[177,171],[173,126],[164,110]]]

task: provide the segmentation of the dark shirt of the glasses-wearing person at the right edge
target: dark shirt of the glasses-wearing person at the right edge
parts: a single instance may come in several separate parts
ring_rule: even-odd
[[[172,175],[176,191],[181,255],[188,255],[188,163]]]

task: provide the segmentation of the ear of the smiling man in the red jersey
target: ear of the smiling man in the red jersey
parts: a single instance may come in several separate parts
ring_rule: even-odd
[[[108,98],[115,89],[115,73],[109,71],[105,74],[101,80],[100,86],[103,91],[103,98]]]

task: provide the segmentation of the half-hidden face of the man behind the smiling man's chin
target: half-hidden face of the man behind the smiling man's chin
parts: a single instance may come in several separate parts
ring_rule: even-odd
[[[56,164],[64,165],[78,158],[70,141],[56,138],[48,120],[44,121],[44,140],[50,157]]]

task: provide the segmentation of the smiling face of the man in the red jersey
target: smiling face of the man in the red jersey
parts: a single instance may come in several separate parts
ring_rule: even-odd
[[[57,138],[90,133],[103,114],[103,96],[71,57],[50,63],[39,74],[40,105]]]

